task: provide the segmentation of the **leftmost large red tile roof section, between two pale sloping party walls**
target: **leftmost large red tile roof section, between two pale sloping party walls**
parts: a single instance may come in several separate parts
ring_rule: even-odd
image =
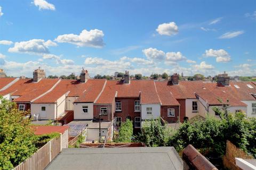
[[[42,79],[39,82],[33,82],[33,79],[20,79],[6,90],[0,91],[0,95],[12,93],[13,96],[20,96],[14,101],[30,102],[50,90],[58,81],[59,79]]]

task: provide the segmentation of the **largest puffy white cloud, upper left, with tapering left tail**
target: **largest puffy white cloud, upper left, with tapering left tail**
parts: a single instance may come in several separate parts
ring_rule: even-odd
[[[102,48],[105,44],[103,43],[104,33],[101,30],[83,30],[79,35],[73,33],[60,35],[54,41],[58,43],[70,43],[75,44],[79,47],[95,47]]]

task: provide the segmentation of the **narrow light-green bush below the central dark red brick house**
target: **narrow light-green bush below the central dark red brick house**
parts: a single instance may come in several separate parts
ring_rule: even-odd
[[[122,122],[119,130],[118,138],[115,142],[131,142],[132,141],[132,121],[129,119],[126,122]]]

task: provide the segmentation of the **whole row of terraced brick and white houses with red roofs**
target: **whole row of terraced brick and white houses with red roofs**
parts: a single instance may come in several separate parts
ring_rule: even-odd
[[[0,95],[17,103],[20,111],[31,111],[39,120],[121,122],[133,121],[140,129],[144,120],[162,117],[167,123],[183,122],[207,113],[218,117],[213,107],[227,105],[232,113],[256,116],[256,84],[230,82],[226,73],[218,82],[90,79],[82,70],[78,80],[46,79],[41,68],[33,79],[0,78]]]

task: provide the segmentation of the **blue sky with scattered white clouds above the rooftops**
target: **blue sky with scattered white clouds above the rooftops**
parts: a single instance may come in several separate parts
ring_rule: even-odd
[[[256,75],[256,1],[0,1],[8,75]]]

